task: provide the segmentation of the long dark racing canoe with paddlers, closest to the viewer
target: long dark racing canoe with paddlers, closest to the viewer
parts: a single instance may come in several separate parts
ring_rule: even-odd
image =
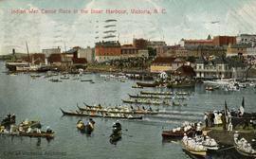
[[[61,109],[61,108],[60,108]],[[124,115],[124,114],[109,114],[109,113],[100,113],[100,114],[94,114],[94,113],[86,113],[86,112],[66,112],[63,109],[61,109],[63,115],[73,115],[73,116],[88,116],[88,117],[104,117],[104,118],[123,118],[123,119],[142,119],[142,116],[133,116],[133,115]]]

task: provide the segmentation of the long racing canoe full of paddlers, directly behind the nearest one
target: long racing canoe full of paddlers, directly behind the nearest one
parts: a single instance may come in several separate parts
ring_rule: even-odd
[[[86,112],[101,112],[101,113],[111,113],[111,114],[138,114],[138,115],[157,115],[158,112],[150,111],[150,110],[130,110],[128,108],[92,108],[92,107],[79,107],[77,106],[80,111]]]

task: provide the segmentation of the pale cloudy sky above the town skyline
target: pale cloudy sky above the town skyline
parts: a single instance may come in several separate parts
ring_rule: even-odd
[[[11,12],[17,9],[39,11]],[[55,13],[42,11],[54,9]],[[91,9],[103,12],[90,13]],[[107,14],[105,9],[126,13]],[[131,9],[152,13],[133,14]],[[93,47],[101,40],[131,44],[133,38],[144,38],[178,44],[182,38],[206,39],[209,34],[255,34],[255,15],[255,0],[0,0],[0,55],[9,54],[12,48],[27,52],[26,42],[29,52],[39,53],[57,46],[63,51],[73,46]],[[108,19],[117,21],[106,23]],[[103,39],[108,30],[117,30],[112,33],[116,37]]]

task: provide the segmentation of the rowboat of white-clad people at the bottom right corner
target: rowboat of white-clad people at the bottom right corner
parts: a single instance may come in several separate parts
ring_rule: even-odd
[[[238,133],[234,133],[234,147],[243,156],[256,157],[256,150],[252,149],[251,144],[244,137],[241,138]]]

